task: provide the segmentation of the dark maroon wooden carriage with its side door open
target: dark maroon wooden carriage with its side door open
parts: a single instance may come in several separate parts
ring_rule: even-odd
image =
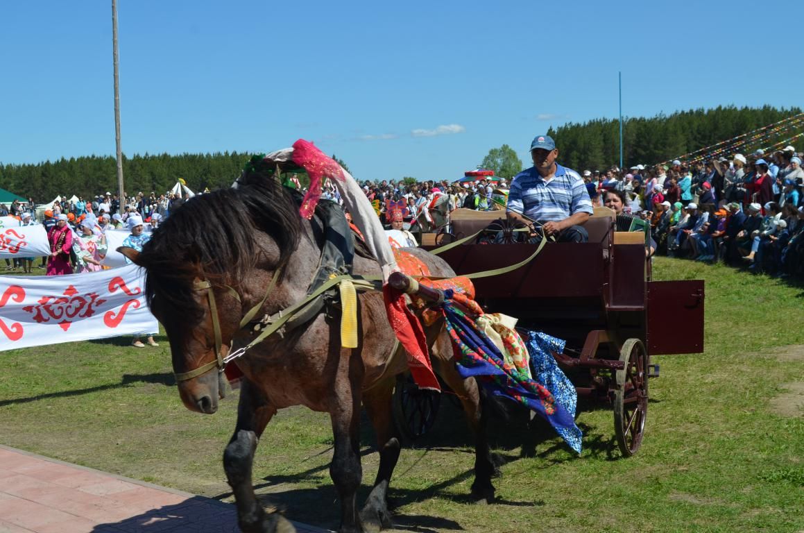
[[[490,227],[486,238],[441,253],[457,274],[499,269],[534,252],[536,244],[513,242],[517,228],[494,221],[500,215],[453,216],[457,238]],[[484,309],[567,341],[556,360],[579,397],[611,405],[617,444],[630,456],[642,444],[648,378],[658,377],[650,357],[704,350],[704,281],[653,281],[643,234],[617,232],[605,207],[585,228],[588,243],[547,244],[521,269],[474,285]],[[396,395],[396,418],[408,437],[426,431],[437,411],[437,400],[413,395],[409,385]]]

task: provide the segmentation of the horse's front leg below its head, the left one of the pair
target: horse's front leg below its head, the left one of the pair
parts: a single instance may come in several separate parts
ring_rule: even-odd
[[[237,425],[224,451],[224,470],[237,506],[237,522],[244,533],[290,533],[293,524],[278,513],[266,514],[254,493],[252,464],[257,441],[277,409],[265,394],[243,380]]]

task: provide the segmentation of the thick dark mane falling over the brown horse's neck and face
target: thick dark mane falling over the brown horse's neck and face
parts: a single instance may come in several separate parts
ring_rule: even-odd
[[[277,267],[289,260],[301,235],[301,215],[297,199],[271,170],[258,166],[244,172],[236,187],[196,195],[154,230],[137,260],[148,272],[149,305],[158,297],[184,314],[199,313],[191,293],[194,277],[244,280],[257,260],[257,231],[276,242]]]

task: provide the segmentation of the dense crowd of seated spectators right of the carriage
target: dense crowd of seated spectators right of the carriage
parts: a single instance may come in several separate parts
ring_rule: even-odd
[[[586,170],[590,195],[650,222],[656,253],[804,279],[804,170],[793,146],[690,166]]]

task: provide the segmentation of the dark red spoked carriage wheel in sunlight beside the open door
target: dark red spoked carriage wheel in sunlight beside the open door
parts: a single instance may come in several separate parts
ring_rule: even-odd
[[[622,455],[637,453],[645,432],[648,413],[648,355],[638,338],[629,338],[620,350],[620,360],[626,363],[616,373],[614,388],[614,433]]]

